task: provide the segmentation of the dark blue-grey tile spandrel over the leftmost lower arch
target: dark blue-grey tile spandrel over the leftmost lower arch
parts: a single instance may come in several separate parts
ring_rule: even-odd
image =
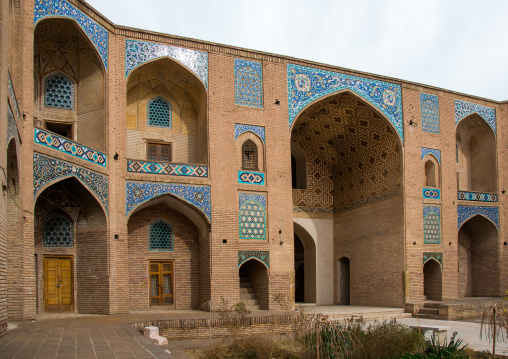
[[[108,210],[108,176],[73,163],[34,153],[34,198],[45,184],[70,176],[76,177],[90,188],[106,211]]]

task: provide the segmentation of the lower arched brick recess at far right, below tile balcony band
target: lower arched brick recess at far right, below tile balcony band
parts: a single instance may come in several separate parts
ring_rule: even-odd
[[[459,230],[459,297],[499,296],[499,242],[494,224],[483,216]]]

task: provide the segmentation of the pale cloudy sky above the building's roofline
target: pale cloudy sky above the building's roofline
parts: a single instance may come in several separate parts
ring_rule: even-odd
[[[87,2],[117,25],[508,100],[508,0]]]

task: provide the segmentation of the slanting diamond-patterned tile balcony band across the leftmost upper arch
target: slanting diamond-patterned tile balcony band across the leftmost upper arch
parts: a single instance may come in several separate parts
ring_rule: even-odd
[[[54,148],[57,151],[67,153],[102,167],[106,167],[106,155],[104,153],[92,150],[91,148],[83,145],[78,145],[76,142],[65,139],[54,133],[49,133],[36,128],[35,143]]]

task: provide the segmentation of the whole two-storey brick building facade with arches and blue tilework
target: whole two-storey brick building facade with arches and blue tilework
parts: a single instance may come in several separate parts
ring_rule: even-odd
[[[0,332],[507,288],[506,102],[0,4]]]

